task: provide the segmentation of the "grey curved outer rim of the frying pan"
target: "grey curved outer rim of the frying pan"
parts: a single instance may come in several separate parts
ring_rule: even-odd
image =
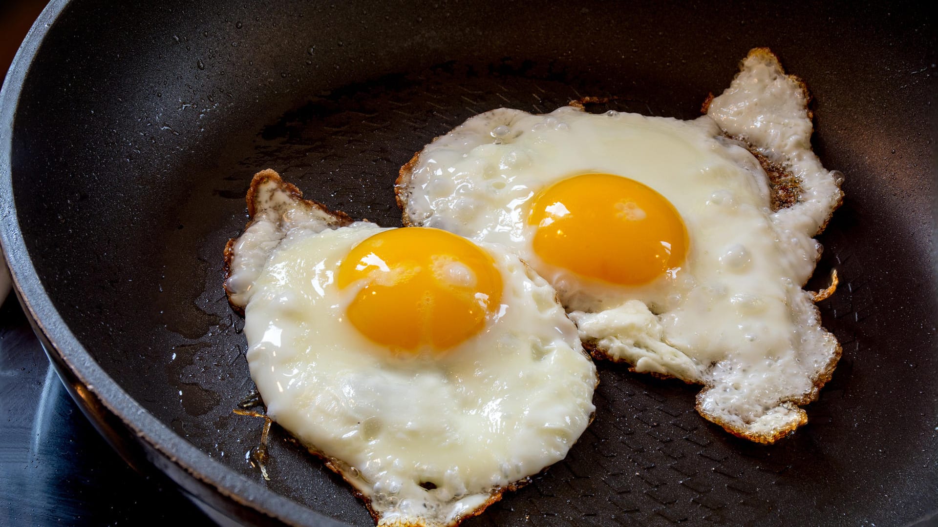
[[[146,444],[151,451],[158,452],[165,461],[181,469],[180,474],[189,474],[195,480],[216,489],[224,498],[287,524],[317,527],[344,525],[235,473],[159,422],[100,368],[68,329],[46,294],[29,258],[16,216],[12,183],[12,133],[23,81],[32,60],[53,23],[70,4],[71,0],[53,0],[43,9],[23,39],[0,89],[0,247],[23,309],[34,322],[34,329],[51,344],[47,353],[57,355],[87,391],[135,435],[138,442]],[[179,485],[183,483],[175,478],[174,481]]]

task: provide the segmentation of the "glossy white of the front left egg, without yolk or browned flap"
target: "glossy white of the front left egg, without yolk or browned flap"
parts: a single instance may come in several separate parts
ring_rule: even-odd
[[[273,250],[245,309],[250,373],[267,414],[328,459],[379,524],[448,525],[564,459],[595,410],[597,373],[552,287],[492,245],[505,285],[481,334],[409,358],[363,337],[335,275],[383,230],[299,232]]]

